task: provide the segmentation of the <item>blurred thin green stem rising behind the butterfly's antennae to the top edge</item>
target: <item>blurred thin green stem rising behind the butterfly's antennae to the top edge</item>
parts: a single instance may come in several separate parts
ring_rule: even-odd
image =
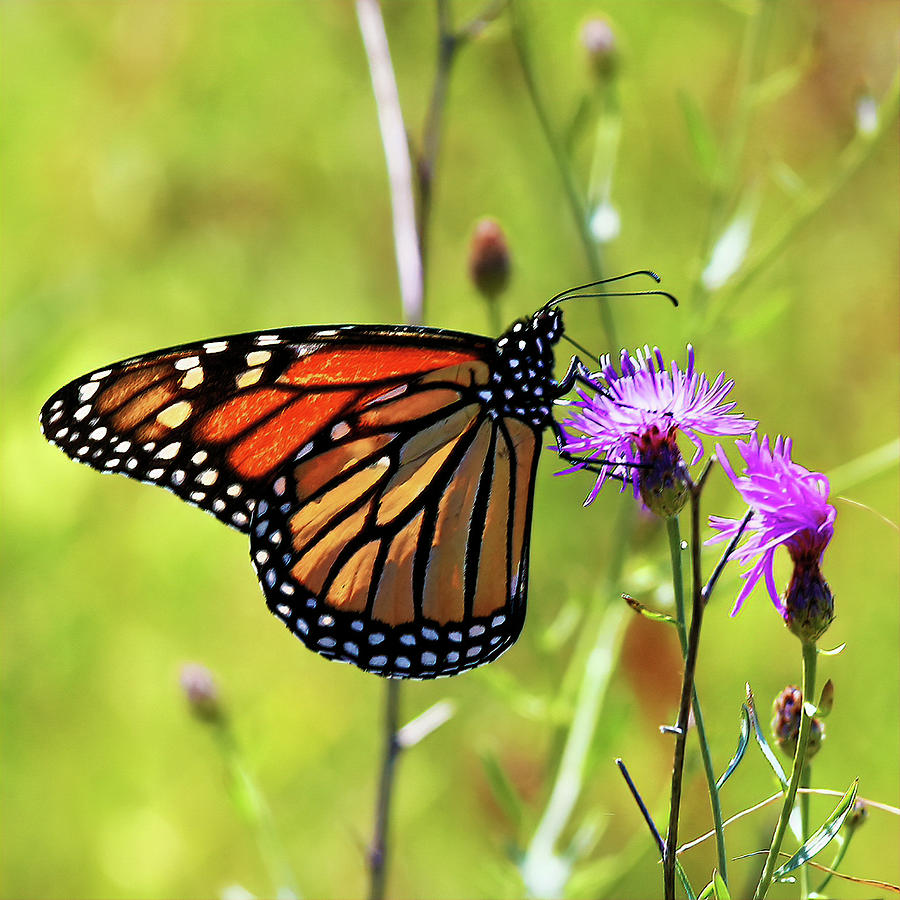
[[[547,112],[547,106],[541,96],[538,88],[537,77],[534,71],[534,65],[531,59],[531,51],[528,46],[528,33],[525,23],[525,12],[523,10],[523,0],[510,0],[510,23],[512,31],[513,45],[519,58],[519,66],[522,69],[522,75],[525,79],[525,87],[528,91],[528,97],[531,105],[534,107],[538,123],[544,135],[544,140],[553,154],[553,160],[559,171],[560,179],[563,184],[563,191],[569,204],[569,210],[572,219],[575,222],[575,228],[578,231],[578,237],[584,249],[587,258],[588,269],[591,273],[592,281],[599,281],[603,277],[603,265],[600,259],[600,249],[588,224],[588,211],[585,206],[582,192],[575,178],[575,172],[572,169],[572,162],[566,153],[563,141],[557,135],[553,124],[550,121],[550,115]],[[600,318],[603,324],[603,330],[606,333],[606,341],[611,347],[618,347],[616,340],[615,324],[613,322],[612,313],[605,304],[600,304]]]

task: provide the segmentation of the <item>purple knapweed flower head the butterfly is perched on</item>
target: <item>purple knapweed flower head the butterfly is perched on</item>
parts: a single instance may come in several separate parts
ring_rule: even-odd
[[[734,386],[720,373],[713,384],[694,369],[694,348],[688,345],[687,369],[676,363],[665,367],[658,348],[637,350],[634,356],[623,350],[621,373],[609,356],[600,360],[593,377],[597,393],[577,390],[579,400],[569,405],[578,411],[563,423],[563,450],[578,456],[574,471],[591,461],[602,461],[597,481],[585,500],[591,503],[608,478],[630,483],[635,497],[655,513],[674,516],[688,497],[688,473],[677,434],[682,432],[696,448],[691,465],[704,454],[703,435],[747,434],[756,422],[731,412],[735,404],[726,402]],[[578,434],[577,432],[580,432]]]

